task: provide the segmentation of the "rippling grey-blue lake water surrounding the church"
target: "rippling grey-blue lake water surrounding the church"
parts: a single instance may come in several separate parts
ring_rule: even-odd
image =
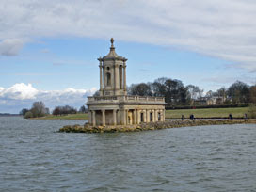
[[[256,125],[55,133],[0,118],[0,191],[256,191]]]

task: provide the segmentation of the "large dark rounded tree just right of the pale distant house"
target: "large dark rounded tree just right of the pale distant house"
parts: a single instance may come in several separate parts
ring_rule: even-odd
[[[249,86],[241,81],[236,81],[228,88],[228,95],[233,104],[249,102]]]

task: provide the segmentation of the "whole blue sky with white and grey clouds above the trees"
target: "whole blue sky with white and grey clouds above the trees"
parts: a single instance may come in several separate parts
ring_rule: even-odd
[[[0,0],[0,113],[85,104],[112,37],[128,86],[254,85],[255,9],[254,0]]]

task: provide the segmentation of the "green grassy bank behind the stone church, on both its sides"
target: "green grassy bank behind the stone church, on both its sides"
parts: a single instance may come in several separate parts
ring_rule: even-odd
[[[229,114],[232,114],[233,118],[243,118],[245,113],[248,114],[248,107],[237,108],[205,108],[205,109],[178,109],[167,110],[166,119],[180,119],[182,115],[184,118],[189,118],[191,114],[195,118],[206,119],[221,119],[228,118]],[[37,120],[88,120],[88,114],[71,114],[65,116],[53,116],[49,115],[42,118],[36,118]]]

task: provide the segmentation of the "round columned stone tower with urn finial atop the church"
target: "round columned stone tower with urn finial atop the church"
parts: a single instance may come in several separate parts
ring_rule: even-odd
[[[98,58],[100,61],[100,95],[126,95],[127,59],[117,55],[113,38],[111,38],[110,42],[111,47],[108,55]]]

